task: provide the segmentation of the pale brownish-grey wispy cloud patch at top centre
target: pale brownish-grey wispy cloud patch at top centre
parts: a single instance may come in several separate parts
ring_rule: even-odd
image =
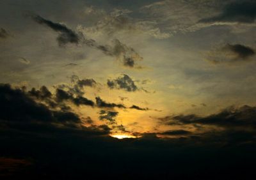
[[[124,33],[132,36],[136,33],[147,34],[158,39],[170,37],[169,33],[161,31],[156,21],[137,18],[131,10],[115,8],[109,13],[93,7],[87,8],[87,10],[91,12],[91,16],[98,15],[100,17],[100,20],[94,26],[83,27],[83,31],[88,34],[115,36],[116,34]]]

